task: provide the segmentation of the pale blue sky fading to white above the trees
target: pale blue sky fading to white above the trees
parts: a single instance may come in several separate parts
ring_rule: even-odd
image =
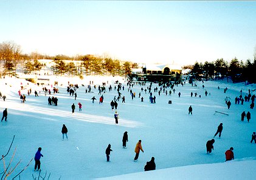
[[[253,59],[256,1],[0,1],[23,53],[194,64]]]

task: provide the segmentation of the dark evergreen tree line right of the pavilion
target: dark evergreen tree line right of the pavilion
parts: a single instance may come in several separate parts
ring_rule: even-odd
[[[239,61],[237,58],[232,59],[230,62],[224,61],[223,58],[217,59],[213,62],[204,62],[204,64],[195,62],[192,67],[193,79],[232,79],[233,82],[249,82],[255,83],[256,72],[256,53],[254,60],[247,59]]]

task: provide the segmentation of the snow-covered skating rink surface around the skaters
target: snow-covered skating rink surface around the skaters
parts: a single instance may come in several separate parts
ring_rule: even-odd
[[[249,108],[249,102],[235,105],[234,100],[240,95],[241,89],[244,97],[249,89],[255,89],[255,85],[207,81],[202,88],[202,82],[196,82],[197,87],[186,83],[183,87],[175,86],[176,92],[171,93],[171,96],[164,93],[159,96],[153,91],[156,104],[150,104],[148,91],[147,94],[141,92],[140,85],[131,88],[136,92],[136,98],[132,100],[126,82],[121,77],[95,76],[80,80],[51,76],[50,79],[51,84],[58,81],[58,86],[55,87],[59,88],[60,93],[51,95],[58,98],[58,106],[48,105],[49,95],[44,95],[43,87],[30,82],[27,88],[32,88],[32,95],[28,96],[27,89],[24,90],[22,93],[25,93],[27,98],[25,104],[22,104],[18,90],[21,82],[23,85],[27,82],[24,79],[0,79],[0,91],[2,95],[7,96],[5,102],[0,100],[0,110],[2,112],[4,108],[8,109],[8,122],[1,122],[0,125],[0,153],[5,155],[15,135],[13,147],[5,161],[9,162],[14,148],[17,147],[12,167],[19,159],[22,161],[16,168],[16,173],[35,156],[38,147],[42,147],[41,153],[44,157],[41,158],[41,174],[44,175],[46,171],[51,173],[50,179],[97,179],[109,176],[116,177],[107,179],[225,179],[218,178],[218,175],[222,174],[226,175],[226,179],[255,177],[252,167],[255,167],[256,162],[251,160],[256,160],[256,144],[250,143],[252,132],[256,132],[255,109]],[[117,80],[125,86],[125,90],[120,91],[121,96],[125,96],[125,103],[122,104],[122,99],[117,101],[119,124],[115,124],[114,111],[110,106],[111,100],[118,94],[114,88],[111,92],[108,90],[109,84],[114,87]],[[79,85],[80,88],[76,91],[77,100],[67,94],[67,81]],[[89,81],[94,81],[97,87],[98,84],[102,85],[102,82],[109,82],[106,84],[106,93],[103,93],[103,104],[99,104],[100,95],[97,88],[92,88],[93,93],[85,93]],[[143,88],[148,85],[149,83]],[[54,86],[46,87],[52,90]],[[154,87],[159,88],[157,84],[153,84]],[[226,87],[228,90],[224,93]],[[41,90],[39,97],[33,94],[35,89],[38,93]],[[205,90],[210,95],[205,96]],[[139,92],[144,97],[144,102],[140,102]],[[190,97],[191,92],[198,93],[198,96]],[[253,95],[255,92],[251,93]],[[97,99],[94,104],[91,100],[93,96]],[[226,96],[230,97],[232,102],[229,110],[224,102]],[[169,100],[172,104],[168,104]],[[78,112],[78,102],[83,105],[81,112]],[[71,113],[73,103],[76,105],[74,114]],[[190,105],[193,107],[193,115],[188,115]],[[227,113],[229,116],[215,114],[215,111]],[[246,120],[241,122],[243,111],[251,112],[252,119],[249,123]],[[212,155],[207,155],[206,142],[213,138],[221,122],[221,138],[215,138]],[[63,124],[68,129],[68,141],[61,141]],[[122,136],[125,131],[128,132],[129,141],[124,149]],[[140,152],[139,161],[134,162],[134,147],[139,139],[142,140],[144,153]],[[106,162],[105,149],[108,144],[111,144],[113,150],[110,155],[111,162]],[[224,162],[224,153],[230,147],[234,147],[235,161]],[[144,165],[152,156],[155,158],[157,170],[144,172]],[[33,166],[34,161],[21,174],[21,179],[32,179],[32,175],[38,175],[38,172],[33,172]],[[168,169],[162,170],[164,168]],[[0,170],[2,172],[3,165],[0,165]],[[244,173],[243,176],[238,176],[241,175],[238,170]],[[210,171],[213,171],[211,173],[215,176],[205,178]],[[137,174],[138,172],[142,173]],[[130,173],[135,174],[125,175]],[[122,178],[117,175],[122,175]]]

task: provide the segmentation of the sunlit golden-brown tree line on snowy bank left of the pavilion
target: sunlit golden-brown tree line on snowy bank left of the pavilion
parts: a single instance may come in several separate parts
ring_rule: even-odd
[[[37,52],[27,55],[21,53],[20,45],[14,42],[2,42],[0,44],[0,60],[4,70],[0,72],[0,76],[16,76],[18,66],[25,74],[36,73],[46,66],[38,59],[52,60],[53,65],[50,70],[54,75],[80,76],[80,78],[83,78],[84,75],[128,75],[131,73],[131,68],[137,65],[128,61],[94,55],[47,56]]]

